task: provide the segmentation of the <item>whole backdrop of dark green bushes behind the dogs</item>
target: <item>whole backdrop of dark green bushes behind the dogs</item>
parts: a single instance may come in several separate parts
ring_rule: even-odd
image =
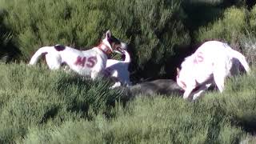
[[[242,7],[244,1],[2,0],[0,6],[6,11],[2,26],[11,30],[7,35],[10,34],[12,46],[21,50],[20,60],[29,60],[41,46],[58,43],[86,50],[97,45],[102,34],[110,29],[129,44],[131,78],[138,82],[140,78],[174,78],[170,73],[180,64],[176,57],[182,57],[181,47],[190,51],[191,42],[218,38],[238,47],[244,27],[234,26],[236,19],[229,19],[228,11],[223,14],[226,7],[234,5]],[[242,15],[238,23],[243,18]]]

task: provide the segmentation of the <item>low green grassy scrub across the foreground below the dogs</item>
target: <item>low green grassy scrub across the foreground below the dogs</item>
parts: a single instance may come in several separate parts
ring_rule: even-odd
[[[254,142],[255,73],[197,102],[138,97],[42,66],[0,64],[1,143]]]

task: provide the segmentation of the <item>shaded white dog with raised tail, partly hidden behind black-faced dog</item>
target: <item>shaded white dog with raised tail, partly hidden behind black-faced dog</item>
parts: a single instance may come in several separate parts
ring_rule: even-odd
[[[108,59],[106,61],[106,74],[114,79],[114,86],[130,86],[130,72],[128,70],[130,64],[130,54],[126,50],[122,50],[124,61]]]

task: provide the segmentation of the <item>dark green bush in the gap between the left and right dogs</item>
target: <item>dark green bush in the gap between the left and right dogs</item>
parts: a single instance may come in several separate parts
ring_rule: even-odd
[[[140,24],[132,36],[136,62],[132,66],[138,70],[138,78],[165,74],[174,47],[190,44],[179,5],[178,1],[136,1],[134,15]]]

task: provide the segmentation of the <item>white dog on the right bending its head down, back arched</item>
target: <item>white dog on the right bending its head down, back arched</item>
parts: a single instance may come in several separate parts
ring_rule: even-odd
[[[250,70],[241,53],[223,42],[205,42],[182,62],[177,83],[185,90],[183,98],[196,99],[211,85],[216,85],[222,92],[225,78],[239,74],[241,68],[246,72]]]

